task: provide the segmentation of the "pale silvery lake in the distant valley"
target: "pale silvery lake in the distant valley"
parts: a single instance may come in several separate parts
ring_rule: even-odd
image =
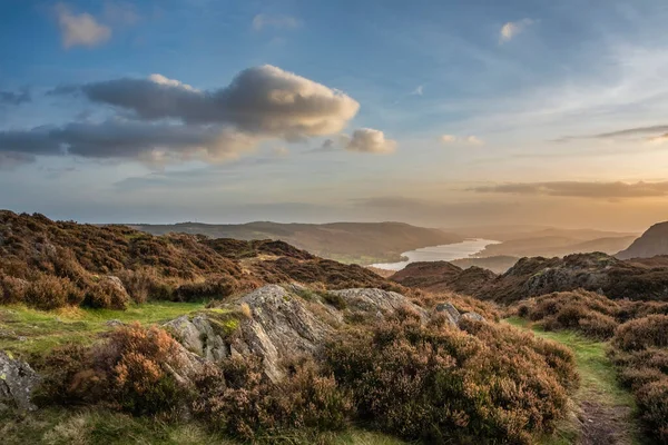
[[[401,254],[409,259],[400,263],[379,263],[372,265],[379,269],[401,270],[411,263],[418,261],[452,261],[453,259],[469,258],[473,254],[478,254],[487,246],[500,244],[491,239],[466,239],[462,243],[445,244],[442,246],[423,247],[416,250],[404,251]]]

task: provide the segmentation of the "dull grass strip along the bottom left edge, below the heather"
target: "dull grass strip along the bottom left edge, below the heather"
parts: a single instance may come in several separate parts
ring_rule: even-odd
[[[2,444],[49,445],[236,445],[240,442],[220,436],[195,422],[174,423],[149,417],[132,417],[106,409],[46,408],[35,413],[0,413]],[[405,442],[380,433],[350,428],[345,432],[312,436],[266,437],[264,443],[322,445],[403,445]]]

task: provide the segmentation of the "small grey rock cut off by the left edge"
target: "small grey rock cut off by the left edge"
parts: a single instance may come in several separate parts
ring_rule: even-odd
[[[21,411],[37,409],[30,395],[39,380],[30,365],[14,359],[10,353],[0,352],[0,403]]]

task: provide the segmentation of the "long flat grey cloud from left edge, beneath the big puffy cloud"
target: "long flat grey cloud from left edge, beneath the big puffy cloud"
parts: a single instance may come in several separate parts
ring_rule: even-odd
[[[71,155],[135,159],[149,165],[187,159],[217,162],[237,158],[258,141],[253,136],[227,128],[108,120],[0,131],[0,155]]]

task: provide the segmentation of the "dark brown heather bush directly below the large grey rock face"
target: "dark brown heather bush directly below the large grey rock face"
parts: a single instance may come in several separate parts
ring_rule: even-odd
[[[195,412],[217,428],[254,439],[288,431],[333,431],[346,425],[352,402],[313,359],[295,362],[278,384],[258,357],[233,357],[200,376]]]

